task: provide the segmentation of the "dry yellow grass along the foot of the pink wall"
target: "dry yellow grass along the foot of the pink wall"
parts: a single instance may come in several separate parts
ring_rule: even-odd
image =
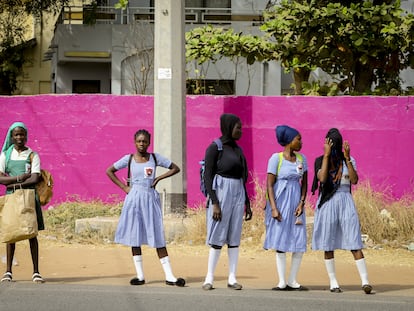
[[[264,186],[255,182],[256,196],[251,206],[253,219],[245,222],[242,231],[242,244],[250,248],[262,249],[265,233],[264,227]],[[353,191],[353,196],[360,216],[361,230],[368,235],[368,246],[382,245],[404,247],[414,242],[414,200],[405,197],[400,200],[374,192],[369,184],[359,185]],[[313,210],[309,202],[306,204],[307,216],[312,216]],[[59,239],[66,243],[102,243],[112,240],[114,232],[97,232],[87,230],[81,235],[75,234],[75,220],[96,216],[118,216],[121,205],[110,205],[102,202],[67,202],[54,209],[44,211],[48,237]],[[185,230],[175,236],[175,243],[203,245],[205,243],[205,206],[188,209],[183,216]],[[309,237],[312,225],[308,225]]]

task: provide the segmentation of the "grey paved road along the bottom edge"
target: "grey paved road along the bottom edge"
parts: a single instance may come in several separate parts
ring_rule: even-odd
[[[414,310],[414,297],[227,288],[0,284],[1,311]]]

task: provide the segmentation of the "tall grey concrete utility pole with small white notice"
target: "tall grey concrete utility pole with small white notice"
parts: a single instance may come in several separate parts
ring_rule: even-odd
[[[186,207],[184,0],[157,0],[154,42],[154,150],[181,172],[158,186],[165,213]],[[160,173],[160,171],[159,171]]]

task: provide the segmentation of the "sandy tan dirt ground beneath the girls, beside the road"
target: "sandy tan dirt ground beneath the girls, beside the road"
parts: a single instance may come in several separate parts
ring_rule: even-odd
[[[32,264],[27,241],[17,243],[17,265],[13,267],[16,282],[30,282]],[[128,285],[135,275],[131,251],[122,245],[62,244],[39,237],[40,272],[45,280],[56,284]],[[168,245],[169,257],[176,277],[187,286],[200,288],[207,271],[207,246]],[[369,279],[376,294],[414,297],[414,252],[408,250],[364,250]],[[0,268],[5,270],[5,247],[0,249]],[[352,254],[337,251],[337,278],[344,292],[361,293],[359,275]],[[165,286],[161,264],[152,248],[143,247],[146,285]],[[290,262],[290,254],[288,254]],[[214,286],[226,288],[227,250],[223,248]],[[244,288],[270,289],[277,284],[275,253],[249,249],[241,245],[238,282]],[[328,290],[329,282],[323,253],[305,253],[298,282],[310,290]]]

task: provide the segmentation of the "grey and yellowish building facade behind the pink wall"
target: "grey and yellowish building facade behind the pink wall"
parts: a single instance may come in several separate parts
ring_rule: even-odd
[[[103,93],[153,94],[154,1],[130,0],[124,10],[118,0],[73,0],[57,17],[33,20],[37,44],[28,50],[19,94]],[[186,0],[185,30],[212,24],[235,32],[261,34],[263,10],[277,1]],[[414,12],[414,0],[402,0]],[[202,81],[205,94],[292,94],[291,74],[277,62],[255,63],[220,60],[186,67],[187,93]],[[315,79],[320,74],[313,74]],[[414,71],[401,73],[403,87],[413,86]]]

